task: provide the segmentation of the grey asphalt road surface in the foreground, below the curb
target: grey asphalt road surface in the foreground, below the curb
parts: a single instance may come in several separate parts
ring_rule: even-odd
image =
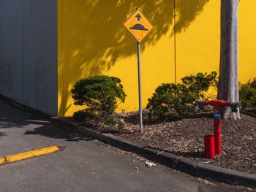
[[[0,191],[239,191],[205,185],[120,153],[0,100],[0,157],[59,145],[64,151],[0,165]],[[240,191],[242,191],[240,189]]]

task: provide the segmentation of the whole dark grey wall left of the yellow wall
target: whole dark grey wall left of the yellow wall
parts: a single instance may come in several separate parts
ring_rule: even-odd
[[[0,39],[4,39],[3,54],[0,56],[8,60],[9,55],[16,55],[15,61],[11,62],[12,90],[8,91],[6,85],[5,87],[0,85],[0,93],[29,107],[57,115],[56,0],[0,0],[0,2],[9,9],[6,14],[11,18],[2,19],[4,26],[14,28],[14,23],[17,23],[13,32],[16,34],[12,35],[12,39],[7,33],[0,32]],[[7,42],[11,42],[10,47],[5,45]]]

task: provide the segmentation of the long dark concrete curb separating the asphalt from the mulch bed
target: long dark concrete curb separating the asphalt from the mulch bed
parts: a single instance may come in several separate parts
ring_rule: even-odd
[[[114,147],[118,147],[121,150],[126,150],[132,153],[137,153],[145,158],[152,161],[156,161],[159,164],[168,166],[172,169],[177,169],[181,172],[186,172],[195,177],[201,177],[208,180],[214,180],[221,183],[227,183],[231,185],[242,185],[249,188],[256,188],[256,175],[248,174],[245,172],[238,172],[231,169],[224,169],[219,166],[211,166],[208,164],[196,163],[193,161],[188,161],[186,158],[179,157],[170,153],[166,153],[160,150],[155,150],[151,148],[144,147],[143,145],[135,144],[134,142],[129,142],[126,139],[121,139],[114,137],[111,134],[101,134],[96,131],[91,131],[88,128],[79,126],[76,123],[69,122],[61,118],[50,117],[43,112],[34,110],[31,107],[26,107],[12,99],[7,99],[0,95],[0,99],[7,101],[10,105],[18,108],[19,110],[25,110],[26,112],[31,112],[36,115],[41,115],[43,118],[47,118],[53,123],[63,126],[63,128],[70,130],[72,128],[80,134],[84,134],[93,139],[108,143]]]

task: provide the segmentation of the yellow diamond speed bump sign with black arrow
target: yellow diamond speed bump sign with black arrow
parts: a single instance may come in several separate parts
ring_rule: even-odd
[[[137,9],[125,22],[124,26],[140,43],[153,29],[148,19]]]

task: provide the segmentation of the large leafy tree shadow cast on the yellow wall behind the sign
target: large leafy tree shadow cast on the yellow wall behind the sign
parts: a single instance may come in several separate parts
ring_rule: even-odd
[[[136,54],[135,39],[123,26],[129,15],[135,12],[135,7],[139,7],[154,26],[151,34],[143,41],[143,51],[146,45],[155,45],[166,34],[171,37],[186,30],[208,1],[61,1],[60,14],[64,15],[59,20],[64,29],[64,44],[61,45],[64,66],[59,66],[59,73],[64,75],[61,110],[67,112],[70,85],[74,85],[78,79],[102,74],[114,66],[118,58]]]

